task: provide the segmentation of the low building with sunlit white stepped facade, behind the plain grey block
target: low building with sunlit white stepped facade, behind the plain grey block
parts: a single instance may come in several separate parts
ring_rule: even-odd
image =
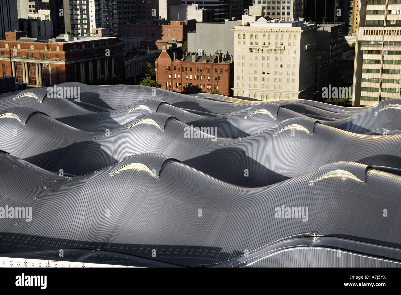
[[[170,6],[170,20],[194,19],[196,22],[213,22],[215,10],[200,8],[198,4]]]

